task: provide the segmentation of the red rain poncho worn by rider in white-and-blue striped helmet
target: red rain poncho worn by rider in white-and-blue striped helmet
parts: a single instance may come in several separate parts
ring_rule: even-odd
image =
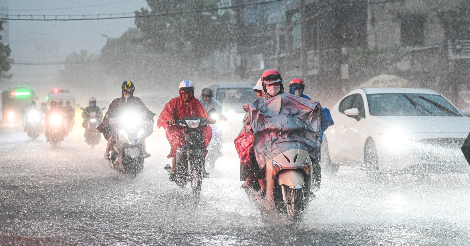
[[[207,111],[194,96],[191,98],[189,103],[184,103],[181,96],[173,97],[170,102],[166,103],[162,113],[160,113],[157,120],[157,127],[163,127],[166,130],[166,138],[171,146],[168,158],[174,157],[176,154],[176,148],[183,146],[184,138],[181,135],[185,129],[176,126],[168,126],[167,122],[172,119],[184,119],[189,116],[207,118]],[[204,131],[204,142],[206,144],[205,147],[207,148],[212,138],[211,127],[200,127],[200,129],[201,131]]]

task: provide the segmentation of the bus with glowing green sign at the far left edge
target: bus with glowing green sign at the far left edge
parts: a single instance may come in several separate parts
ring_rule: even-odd
[[[27,87],[13,87],[1,92],[1,112],[4,123],[21,121],[21,109],[35,100],[34,91]]]

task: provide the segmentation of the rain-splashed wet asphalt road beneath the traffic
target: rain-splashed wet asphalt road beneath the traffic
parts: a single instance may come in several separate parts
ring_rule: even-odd
[[[135,180],[102,159],[77,130],[57,148],[0,128],[0,245],[470,245],[466,175],[401,176],[369,183],[361,170],[324,176],[302,222],[262,212],[238,187],[232,145],[200,197],[163,167],[164,132]]]

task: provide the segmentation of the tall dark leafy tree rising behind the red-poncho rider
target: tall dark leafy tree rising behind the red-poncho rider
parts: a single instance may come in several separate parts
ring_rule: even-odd
[[[142,8],[137,16],[181,13],[196,9],[217,8],[219,0],[147,0],[150,11]],[[203,13],[136,18],[142,32],[141,43],[154,52],[167,53],[194,71],[206,56],[230,43],[230,12],[216,10]]]

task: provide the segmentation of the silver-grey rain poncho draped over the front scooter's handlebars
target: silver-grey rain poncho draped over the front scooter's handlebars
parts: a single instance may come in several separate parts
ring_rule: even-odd
[[[255,136],[253,147],[259,168],[290,149],[306,150],[315,158],[314,150],[320,146],[319,103],[282,93],[268,100],[258,98],[243,109],[248,113],[243,123],[251,126]]]

